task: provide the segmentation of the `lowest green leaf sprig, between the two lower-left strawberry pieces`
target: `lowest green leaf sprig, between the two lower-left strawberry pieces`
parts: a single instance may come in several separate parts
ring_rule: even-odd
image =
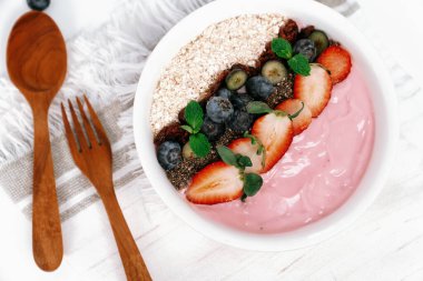
[[[240,200],[244,202],[247,197],[255,195],[263,185],[263,179],[257,173],[245,172],[245,168],[253,165],[249,157],[239,153],[234,153],[229,148],[225,145],[217,145],[216,149],[217,153],[225,163],[234,165],[239,170],[240,179],[244,182],[244,193]]]

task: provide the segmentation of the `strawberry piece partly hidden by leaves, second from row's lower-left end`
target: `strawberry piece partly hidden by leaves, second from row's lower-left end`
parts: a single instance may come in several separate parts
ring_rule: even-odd
[[[258,172],[258,173],[262,172],[263,154],[260,155],[257,154],[257,151],[259,149],[258,143],[253,144],[252,139],[242,138],[242,139],[236,139],[233,142],[230,142],[228,148],[234,153],[243,154],[245,157],[248,157],[252,160],[253,167],[247,167],[245,169],[245,172]]]

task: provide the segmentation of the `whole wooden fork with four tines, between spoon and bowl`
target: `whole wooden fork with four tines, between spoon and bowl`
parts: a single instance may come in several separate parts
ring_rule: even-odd
[[[77,167],[97,189],[97,192],[105,204],[127,280],[151,280],[116,198],[111,172],[112,155],[110,142],[87,97],[83,96],[83,99],[94,128],[88,120],[81,101],[77,98],[78,108],[82,117],[82,126],[78,121],[72,103],[68,100],[76,138],[70,128],[63,103],[61,104],[61,114],[63,118],[70,153],[72,154]],[[83,136],[82,127],[87,133],[88,140]]]

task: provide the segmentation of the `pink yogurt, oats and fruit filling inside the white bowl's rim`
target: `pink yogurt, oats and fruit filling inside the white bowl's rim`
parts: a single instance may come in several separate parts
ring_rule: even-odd
[[[184,82],[210,64],[209,84]],[[229,18],[164,70],[150,113],[157,160],[207,218],[253,232],[293,230],[332,213],[358,185],[374,139],[368,96],[348,51],[325,31],[282,14]],[[167,124],[165,110],[174,114]]]

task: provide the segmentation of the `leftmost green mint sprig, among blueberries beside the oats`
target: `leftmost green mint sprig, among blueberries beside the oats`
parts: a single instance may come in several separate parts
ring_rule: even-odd
[[[183,124],[180,128],[190,133],[189,147],[197,157],[206,157],[212,150],[212,144],[207,140],[207,137],[199,132],[204,118],[201,106],[196,101],[188,102],[184,116],[187,124]]]

